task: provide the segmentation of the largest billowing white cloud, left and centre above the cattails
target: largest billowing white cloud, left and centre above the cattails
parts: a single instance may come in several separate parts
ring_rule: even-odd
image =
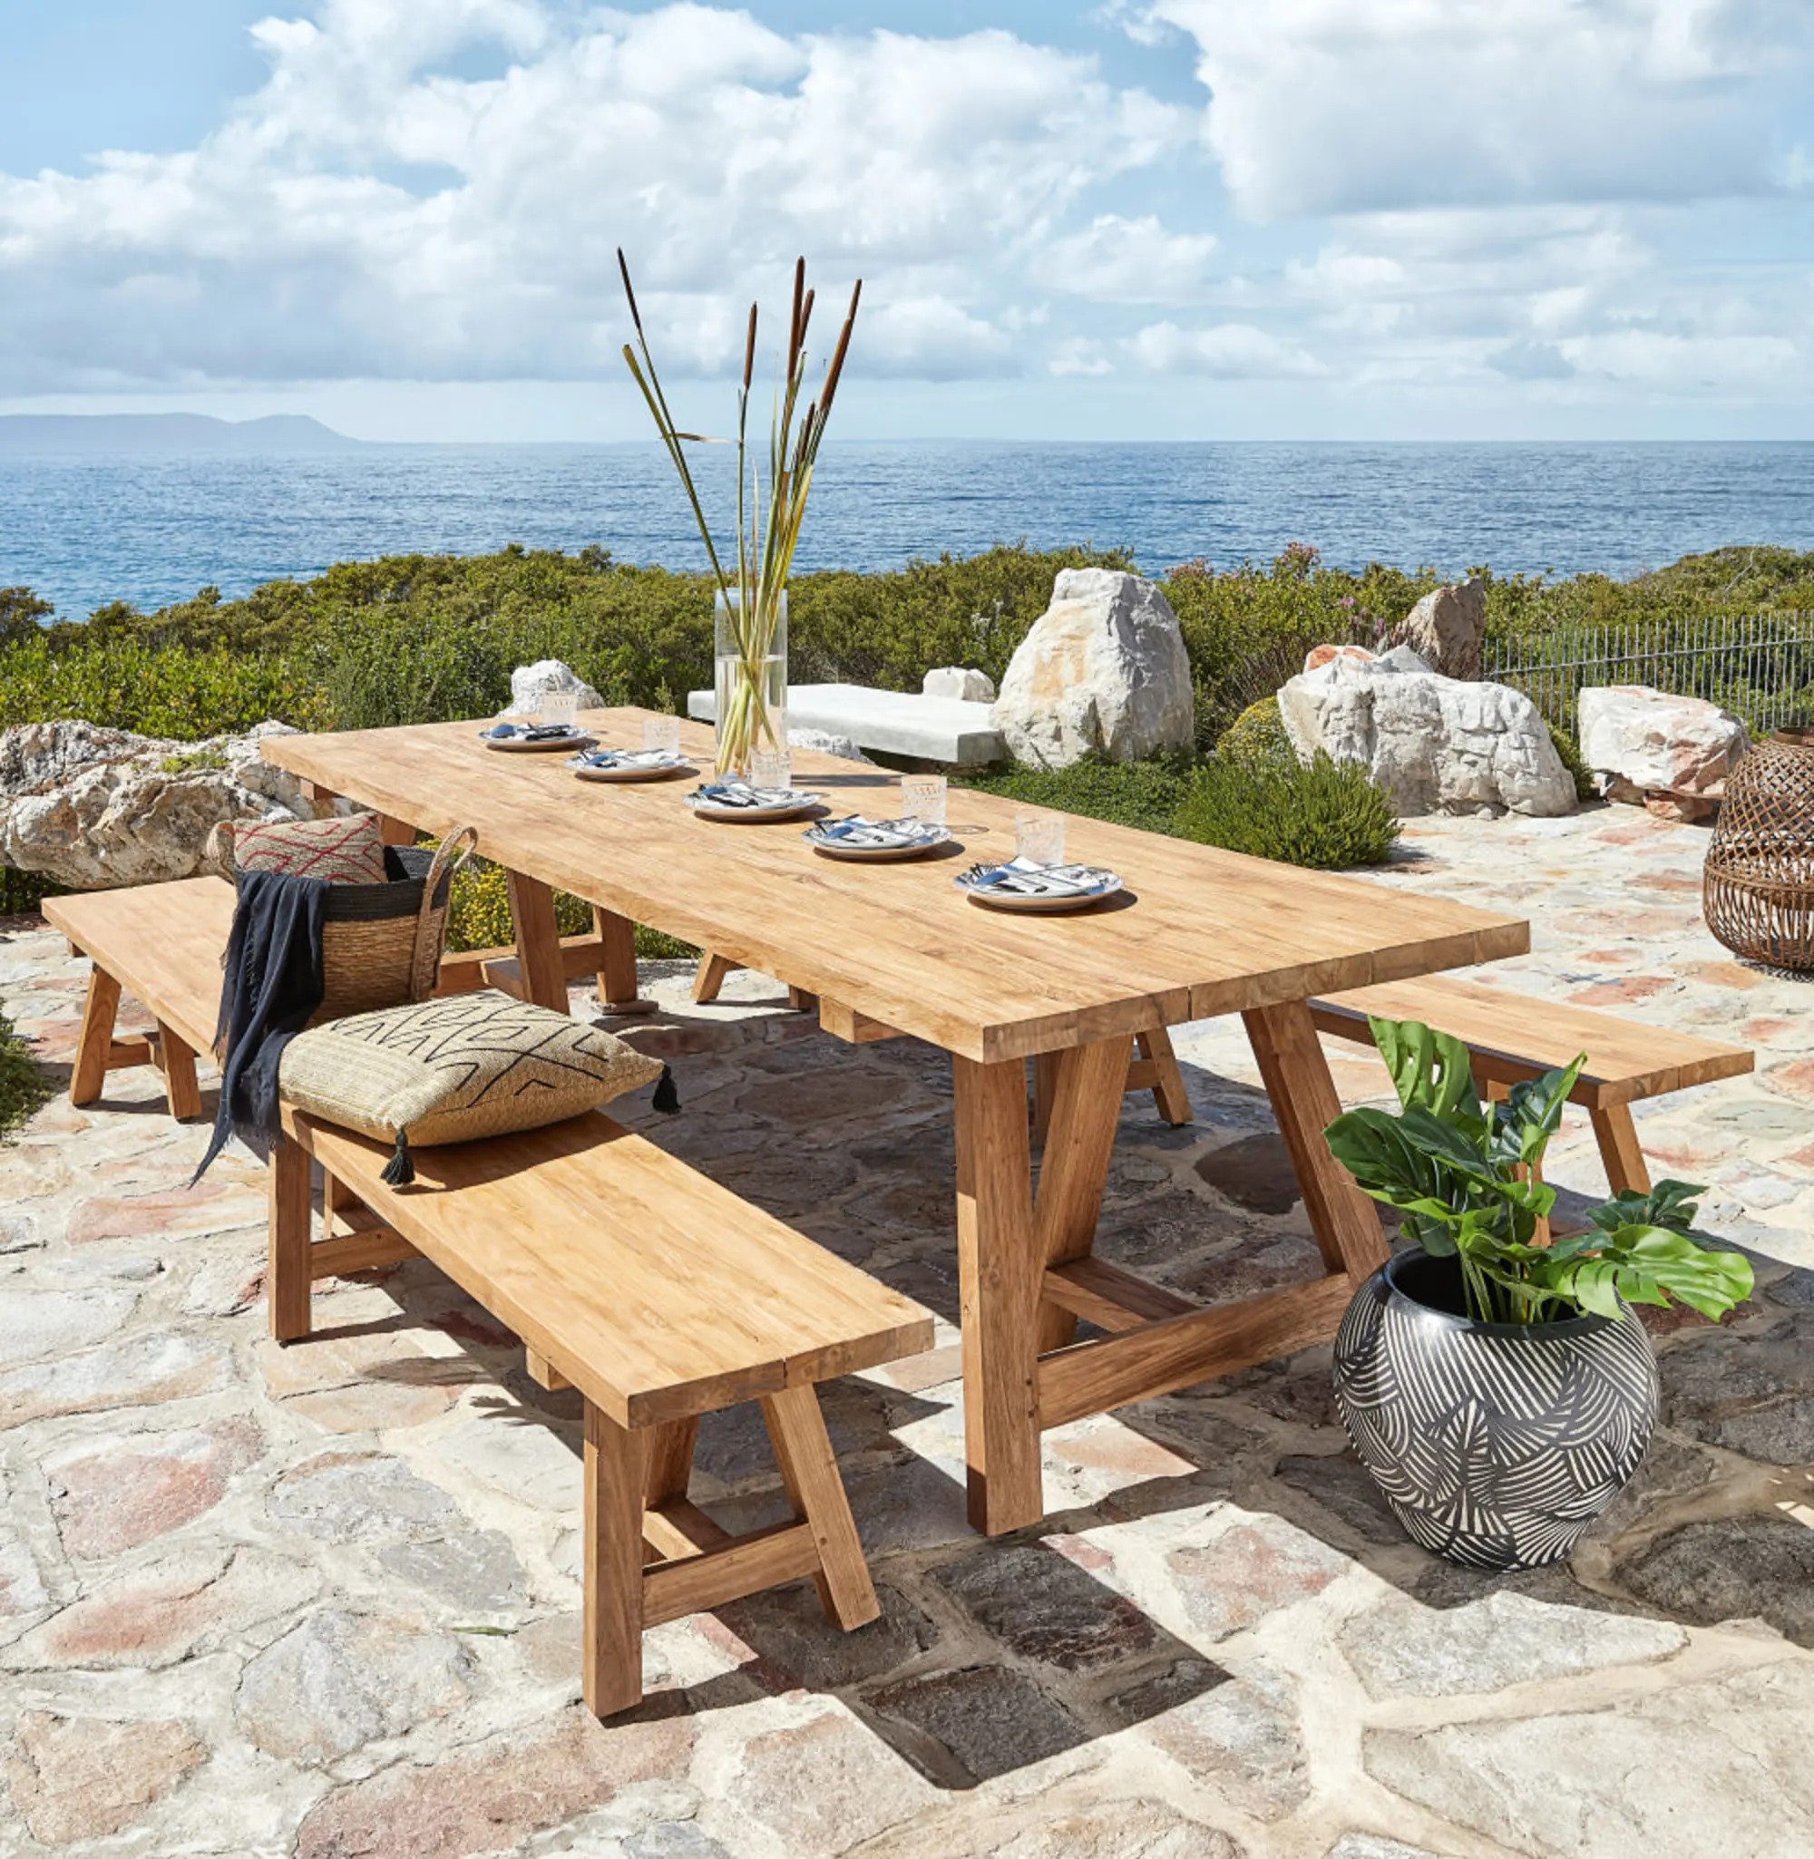
[[[732,364],[740,299],[807,251],[827,290],[868,279],[872,363],[989,372],[1006,342],[972,299],[1190,136],[1006,32],[325,0],[255,37],[269,80],[199,147],[0,175],[0,392],[613,370],[619,244],[675,366]],[[446,74],[474,46],[500,74]]]

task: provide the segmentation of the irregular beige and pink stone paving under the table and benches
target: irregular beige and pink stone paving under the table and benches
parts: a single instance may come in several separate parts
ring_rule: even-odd
[[[1656,1325],[1645,1467],[1518,1578],[1400,1536],[1327,1350],[1050,1435],[1046,1524],[972,1536],[946,1063],[835,1045],[756,976],[675,1008],[660,1140],[944,1325],[827,1394],[885,1619],[838,1636],[797,1584],[677,1621],[610,1727],[576,1705],[572,1396],[414,1264],[271,1348],[255,1166],[188,1192],[203,1134],[149,1071],[46,1108],[0,1151],[0,1853],[1814,1855],[1814,993],[1701,928],[1704,844],[1632,811],[1426,822],[1379,879],[1530,911],[1507,989],[1758,1050],[1637,1114],[1758,1298]],[[41,928],[0,933],[54,1067],[80,987]],[[1102,1251],[1201,1298],[1312,1273],[1238,1028],[1180,1048],[1199,1121],[1128,1101]],[[1572,1123],[1552,1175],[1602,1190]],[[695,1496],[773,1513],[747,1413],[708,1424]]]

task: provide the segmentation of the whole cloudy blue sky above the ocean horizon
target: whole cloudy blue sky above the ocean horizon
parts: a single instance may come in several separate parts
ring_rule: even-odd
[[[0,411],[1814,439],[1810,0],[0,0]]]

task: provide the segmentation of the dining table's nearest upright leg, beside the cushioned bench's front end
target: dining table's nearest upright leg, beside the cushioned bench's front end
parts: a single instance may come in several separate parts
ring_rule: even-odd
[[[996,1536],[1037,1523],[1039,1249],[1026,1065],[952,1060],[957,1272],[963,1305],[970,1523]]]

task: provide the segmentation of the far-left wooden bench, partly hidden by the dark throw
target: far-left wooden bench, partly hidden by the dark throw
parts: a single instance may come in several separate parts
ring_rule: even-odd
[[[173,885],[45,898],[43,909],[45,920],[95,965],[69,1101],[93,1104],[110,1071],[156,1065],[171,1115],[201,1115],[195,1054],[214,1045],[232,885],[223,877],[184,877]],[[132,995],[156,1021],[149,1039],[113,1037],[121,993]]]

